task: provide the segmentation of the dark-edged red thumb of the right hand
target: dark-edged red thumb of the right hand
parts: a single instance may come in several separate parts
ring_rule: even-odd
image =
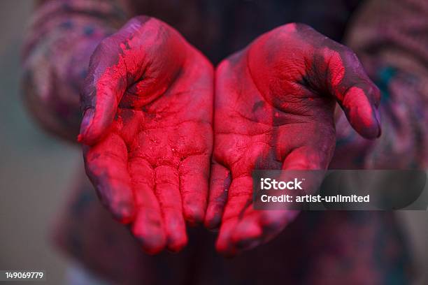
[[[366,75],[357,55],[305,24],[296,27],[301,35],[301,50],[311,62],[306,66],[310,85],[327,89],[335,96],[351,126],[364,138],[380,136],[380,92]]]

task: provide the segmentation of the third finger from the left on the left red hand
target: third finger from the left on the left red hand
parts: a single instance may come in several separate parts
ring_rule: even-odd
[[[187,235],[176,169],[171,166],[155,169],[155,194],[164,218],[166,246],[171,251],[180,251],[187,244]]]

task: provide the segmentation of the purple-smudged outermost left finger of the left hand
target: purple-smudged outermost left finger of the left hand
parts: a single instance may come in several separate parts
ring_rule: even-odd
[[[127,147],[110,133],[93,147],[85,147],[85,170],[101,202],[124,224],[134,219],[134,194],[127,170]]]

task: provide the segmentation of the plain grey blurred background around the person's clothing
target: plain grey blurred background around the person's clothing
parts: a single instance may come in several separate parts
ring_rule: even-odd
[[[47,284],[64,284],[69,261],[52,247],[49,233],[82,159],[76,146],[38,129],[22,105],[20,49],[32,4],[0,1],[0,270],[46,270]],[[399,217],[428,272],[427,212]]]

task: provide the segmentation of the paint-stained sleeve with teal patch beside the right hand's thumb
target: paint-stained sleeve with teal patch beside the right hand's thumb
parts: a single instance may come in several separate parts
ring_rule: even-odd
[[[424,1],[369,1],[348,44],[382,93],[383,135],[359,138],[336,124],[334,168],[425,168],[428,165],[428,6]]]

